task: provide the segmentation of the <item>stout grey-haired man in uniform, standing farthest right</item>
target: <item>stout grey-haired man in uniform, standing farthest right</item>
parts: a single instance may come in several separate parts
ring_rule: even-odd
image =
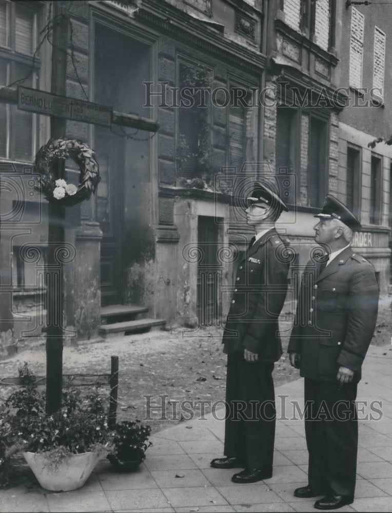
[[[337,509],[354,500],[358,447],[355,400],[361,366],[373,336],[379,288],[375,270],[352,251],[358,219],[327,195],[315,241],[326,253],[303,273],[288,352],[305,378],[308,486],[296,497],[325,496],[317,509]]]

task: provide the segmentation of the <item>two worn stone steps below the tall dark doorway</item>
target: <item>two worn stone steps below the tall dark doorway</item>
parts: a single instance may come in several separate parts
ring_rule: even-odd
[[[135,333],[160,330],[165,327],[162,319],[149,319],[148,308],[134,305],[110,305],[101,307],[100,336],[106,339],[125,337]]]

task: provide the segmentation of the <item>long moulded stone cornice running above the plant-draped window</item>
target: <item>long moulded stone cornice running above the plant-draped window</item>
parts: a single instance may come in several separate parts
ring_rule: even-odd
[[[143,0],[134,17],[174,40],[180,40],[232,66],[245,68],[253,75],[265,67],[266,56],[256,49],[252,50],[234,41],[229,42],[223,34],[209,27],[208,23],[193,18],[166,2]]]

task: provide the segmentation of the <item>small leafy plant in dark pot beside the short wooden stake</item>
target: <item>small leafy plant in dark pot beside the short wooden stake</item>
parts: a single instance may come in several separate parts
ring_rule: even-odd
[[[117,422],[114,427],[113,451],[107,456],[120,471],[135,470],[146,458],[145,451],[152,445],[148,440],[151,427],[140,420]]]

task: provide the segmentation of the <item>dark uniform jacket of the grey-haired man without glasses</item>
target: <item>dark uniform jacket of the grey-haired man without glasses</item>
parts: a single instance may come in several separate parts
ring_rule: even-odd
[[[303,273],[288,352],[301,354],[305,378],[335,382],[343,365],[358,382],[377,320],[374,267],[347,248],[318,275],[319,268],[313,259]]]

